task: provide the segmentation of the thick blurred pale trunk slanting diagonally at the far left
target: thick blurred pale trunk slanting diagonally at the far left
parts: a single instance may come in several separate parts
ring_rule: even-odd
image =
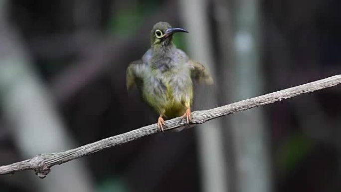
[[[10,22],[8,6],[9,0],[0,0],[1,116],[11,127],[9,131],[21,157],[72,148],[73,140],[55,110],[51,95],[34,70],[18,29]],[[4,160],[2,154],[1,160]],[[30,188],[36,187],[33,191],[37,192],[60,192],[65,188],[73,192],[93,191],[89,172],[82,162],[74,161],[56,170],[44,182],[29,180],[25,183]]]

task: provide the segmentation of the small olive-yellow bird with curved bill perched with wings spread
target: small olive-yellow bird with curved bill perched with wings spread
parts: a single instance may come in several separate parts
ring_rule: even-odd
[[[163,117],[182,115],[189,124],[193,80],[213,83],[202,64],[175,47],[172,42],[175,32],[188,33],[182,28],[172,28],[168,22],[156,23],[150,34],[151,48],[141,60],[130,63],[126,71],[127,90],[137,85],[144,100],[159,113],[158,129],[162,131],[166,126]]]

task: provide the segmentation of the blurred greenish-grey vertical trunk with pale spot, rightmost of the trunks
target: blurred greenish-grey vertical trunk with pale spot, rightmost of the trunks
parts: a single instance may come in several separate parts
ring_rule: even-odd
[[[265,80],[261,62],[261,1],[233,1],[233,62],[230,65],[228,95],[240,100],[263,92]],[[225,35],[221,33],[220,35]],[[234,75],[237,74],[237,75]],[[271,192],[271,162],[267,142],[267,120],[262,109],[239,113],[230,118],[233,137],[235,189],[237,192]],[[250,129],[252,126],[252,129]]]

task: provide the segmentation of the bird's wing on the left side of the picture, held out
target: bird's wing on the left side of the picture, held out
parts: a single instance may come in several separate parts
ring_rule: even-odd
[[[140,85],[143,80],[143,75],[146,70],[146,64],[142,60],[136,60],[129,64],[126,71],[127,90],[135,84]]]

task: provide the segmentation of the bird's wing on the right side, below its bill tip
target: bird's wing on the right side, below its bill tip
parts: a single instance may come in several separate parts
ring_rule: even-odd
[[[191,69],[191,78],[199,83],[205,83],[207,85],[213,84],[213,79],[208,70],[199,62],[189,59],[188,64]]]

